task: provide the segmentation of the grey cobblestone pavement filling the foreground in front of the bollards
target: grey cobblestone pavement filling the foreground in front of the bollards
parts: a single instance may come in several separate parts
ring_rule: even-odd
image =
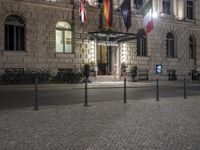
[[[0,111],[1,150],[199,150],[200,97]]]

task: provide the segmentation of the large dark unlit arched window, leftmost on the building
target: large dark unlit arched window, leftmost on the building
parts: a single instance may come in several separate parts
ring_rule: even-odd
[[[25,23],[18,15],[9,15],[5,19],[5,50],[25,50]]]

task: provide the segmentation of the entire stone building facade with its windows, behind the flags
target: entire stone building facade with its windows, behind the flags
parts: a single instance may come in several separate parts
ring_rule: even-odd
[[[0,73],[9,68],[39,68],[56,74],[59,69],[92,63],[97,75],[120,76],[124,63],[127,68],[137,66],[150,80],[168,79],[169,74],[189,78],[191,70],[200,69],[200,1],[153,0],[154,29],[147,35],[140,14],[147,0],[142,2],[132,1],[128,31],[141,35],[138,40],[107,45],[88,34],[100,27],[101,3],[87,6],[88,20],[83,24],[73,0],[1,0]],[[113,2],[113,29],[127,32],[119,3]],[[63,37],[65,45],[61,45]],[[156,65],[162,65],[162,75],[155,73]]]

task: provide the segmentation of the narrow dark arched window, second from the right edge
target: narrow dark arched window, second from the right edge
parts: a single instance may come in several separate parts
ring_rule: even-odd
[[[174,41],[174,35],[172,33],[167,33],[166,50],[167,50],[167,57],[172,57],[172,58],[176,57],[175,41]]]

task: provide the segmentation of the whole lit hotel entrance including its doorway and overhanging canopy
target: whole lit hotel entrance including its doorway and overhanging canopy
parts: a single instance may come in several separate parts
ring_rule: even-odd
[[[114,75],[118,77],[121,69],[121,43],[136,40],[137,34],[117,32],[112,29],[100,29],[88,32],[96,40],[95,64],[97,75]]]

